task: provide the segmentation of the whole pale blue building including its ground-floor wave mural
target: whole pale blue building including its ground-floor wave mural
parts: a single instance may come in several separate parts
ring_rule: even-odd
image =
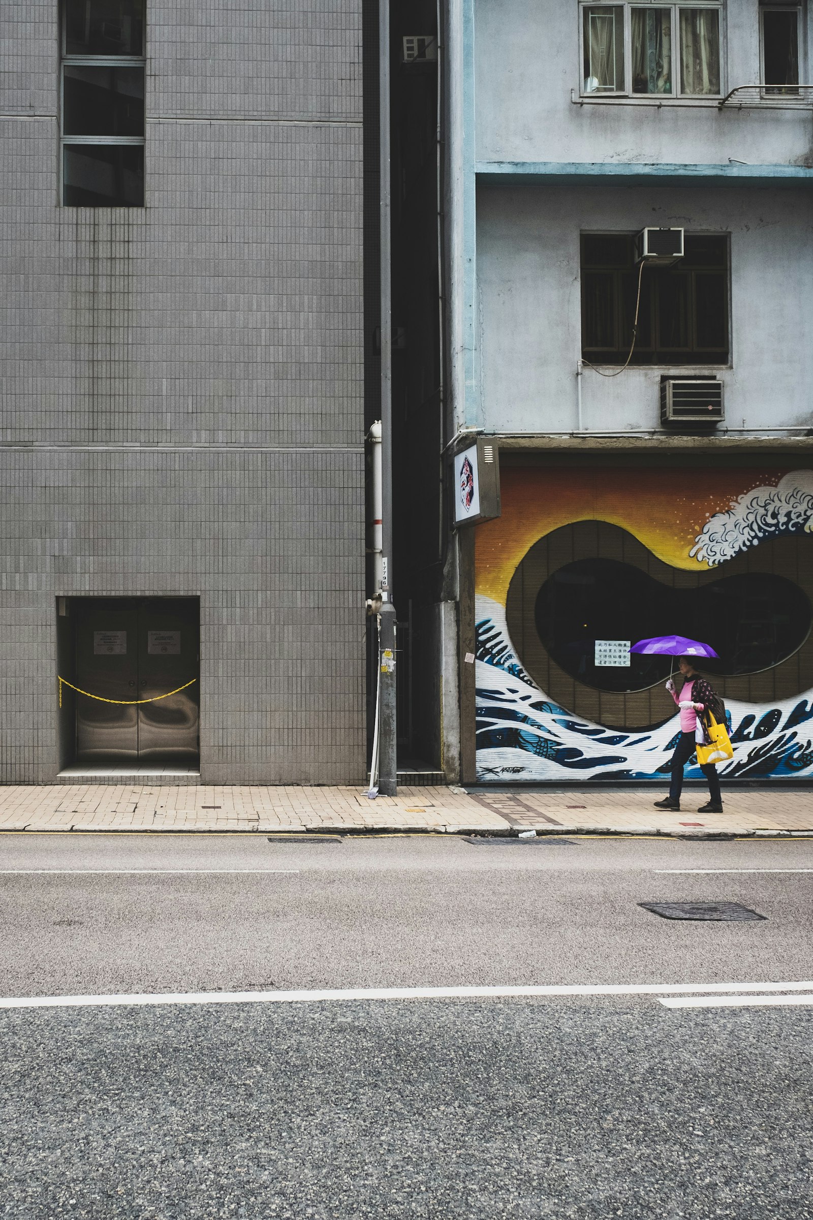
[[[763,11],[776,6],[615,7],[615,95],[585,92],[579,0],[447,9],[450,422],[497,439],[503,481],[502,517],[474,542],[458,536],[464,780],[668,772],[678,727],[663,678],[602,687],[544,637],[535,599],[569,564],[627,564],[698,598],[732,575],[743,589],[781,578],[813,599],[811,11],[796,10],[798,88],[776,93],[761,88]],[[630,92],[631,23],[665,9],[674,46],[681,10],[719,21],[715,95],[679,95],[676,55],[671,95]],[[725,238],[728,359],[601,376],[582,355],[581,238],[647,226]],[[723,382],[725,400],[720,425],[693,434],[660,416],[662,381],[692,376]],[[709,559],[703,539],[718,529]],[[625,633],[590,627],[602,631]],[[775,664],[720,671],[735,741],[725,778],[813,775],[813,647],[798,632]]]

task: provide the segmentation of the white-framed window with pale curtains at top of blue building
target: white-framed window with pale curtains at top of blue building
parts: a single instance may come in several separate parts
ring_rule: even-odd
[[[582,93],[719,96],[720,9],[582,5]]]

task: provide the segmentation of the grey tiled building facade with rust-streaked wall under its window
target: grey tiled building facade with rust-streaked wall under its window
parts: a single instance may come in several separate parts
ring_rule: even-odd
[[[150,0],[144,206],[63,206],[57,0],[4,0],[0,780],[59,599],[200,598],[200,776],[364,773],[360,0]],[[70,749],[68,749],[70,755]]]

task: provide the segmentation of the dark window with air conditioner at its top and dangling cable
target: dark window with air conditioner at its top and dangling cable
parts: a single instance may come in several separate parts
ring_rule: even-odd
[[[634,235],[581,238],[582,356],[623,365],[632,346],[638,288]],[[632,365],[728,365],[729,242],[687,233],[671,267],[645,266]]]

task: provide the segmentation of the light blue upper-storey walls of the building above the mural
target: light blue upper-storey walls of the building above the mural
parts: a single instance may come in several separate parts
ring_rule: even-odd
[[[800,303],[813,283],[809,96],[585,96],[581,9],[576,0],[466,0],[457,30],[450,13],[460,76],[453,276],[465,354],[457,423],[579,429],[580,233],[656,224],[730,234],[730,428],[807,427],[813,320]],[[724,5],[720,21],[726,95],[761,79],[759,5]],[[660,372],[631,368],[602,384],[586,371],[581,426],[654,428]]]

